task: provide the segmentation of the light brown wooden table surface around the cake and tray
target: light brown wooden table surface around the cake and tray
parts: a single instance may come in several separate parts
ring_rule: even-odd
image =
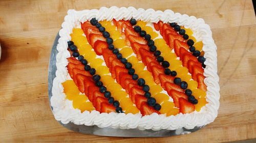
[[[102,6],[172,9],[201,17],[218,47],[221,99],[214,123],[164,138],[101,137],[76,133],[53,117],[48,63],[68,9]],[[256,138],[256,20],[252,1],[1,1],[0,142],[224,142]]]

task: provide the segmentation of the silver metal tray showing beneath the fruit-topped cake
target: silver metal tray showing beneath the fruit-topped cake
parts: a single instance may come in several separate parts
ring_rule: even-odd
[[[53,107],[51,106],[50,99],[52,97],[53,79],[56,77],[55,72],[57,68],[55,64],[56,64],[56,54],[58,53],[56,47],[57,47],[59,38],[60,36],[58,33],[52,46],[49,69],[48,69],[48,93],[49,93],[49,103],[50,103],[51,110],[53,110]],[[183,135],[183,134],[189,134],[191,132],[195,132],[205,126],[205,125],[196,126],[194,129],[186,129],[183,127],[177,130],[162,129],[159,131],[153,131],[153,130],[139,130],[139,129],[119,129],[119,128],[114,129],[111,127],[99,128],[98,126],[95,126],[95,125],[86,126],[86,125],[76,125],[71,122],[68,124],[63,124],[60,121],[58,122],[63,127],[75,132],[91,134],[91,135],[118,136],[118,137],[166,137],[166,136],[174,136],[174,135]]]

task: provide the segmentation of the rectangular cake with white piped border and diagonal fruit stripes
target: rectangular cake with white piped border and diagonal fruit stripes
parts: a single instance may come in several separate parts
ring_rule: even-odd
[[[171,10],[69,10],[59,31],[51,106],[63,124],[176,130],[219,108],[209,25]]]

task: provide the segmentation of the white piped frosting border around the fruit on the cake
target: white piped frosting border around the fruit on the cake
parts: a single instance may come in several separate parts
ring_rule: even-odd
[[[149,22],[158,22],[162,20],[164,23],[177,22],[179,25],[184,25],[185,28],[191,28],[194,31],[198,41],[202,41],[205,51],[204,57],[206,58],[204,69],[204,82],[207,85],[206,101],[209,102],[201,109],[200,112],[194,111],[189,114],[179,113],[176,116],[166,117],[165,115],[158,115],[153,113],[149,116],[141,117],[140,113],[133,115],[132,113],[99,113],[96,110],[91,112],[80,112],[79,109],[74,109],[72,102],[66,100],[66,95],[63,93],[62,82],[67,80],[67,58],[70,56],[67,50],[67,41],[71,40],[70,34],[73,27],[96,17],[100,20],[112,20],[113,18],[143,20]],[[62,23],[62,28],[59,31],[60,38],[58,40],[56,55],[56,77],[53,80],[51,105],[53,107],[53,114],[56,120],[61,121],[63,124],[73,122],[77,125],[97,125],[98,127],[112,127],[120,129],[134,129],[140,130],[176,130],[181,127],[192,129],[195,126],[202,126],[209,124],[215,120],[218,115],[220,87],[219,76],[217,74],[217,46],[212,39],[212,34],[209,25],[204,23],[203,19],[197,19],[194,16],[181,15],[174,13],[171,10],[155,11],[153,9],[135,9],[129,8],[105,8],[99,10],[82,10],[75,11],[69,10],[65,21]]]

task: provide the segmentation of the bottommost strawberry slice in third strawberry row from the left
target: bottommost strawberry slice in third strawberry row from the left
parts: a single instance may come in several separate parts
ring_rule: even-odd
[[[179,104],[181,113],[191,113],[195,111],[195,106],[184,98],[179,98]]]

